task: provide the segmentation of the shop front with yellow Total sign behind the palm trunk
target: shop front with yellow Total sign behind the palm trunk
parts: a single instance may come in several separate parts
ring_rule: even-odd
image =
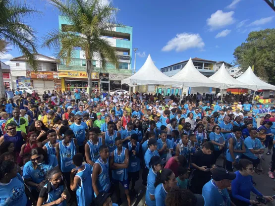
[[[76,88],[87,90],[88,79],[86,72],[78,71],[58,71],[58,77],[61,78],[62,91],[74,91]],[[99,73],[92,72],[92,89],[99,88]]]

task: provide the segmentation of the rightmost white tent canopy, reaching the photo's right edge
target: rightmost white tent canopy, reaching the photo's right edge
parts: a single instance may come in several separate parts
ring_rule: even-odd
[[[248,69],[237,78],[238,81],[243,82],[248,85],[253,86],[253,90],[275,90],[275,86],[268,84],[261,79],[259,79],[254,72],[252,71],[251,67],[249,66]]]

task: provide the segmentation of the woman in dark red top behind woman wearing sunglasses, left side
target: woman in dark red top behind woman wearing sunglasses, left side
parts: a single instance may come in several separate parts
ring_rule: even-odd
[[[37,147],[42,148],[43,145],[41,142],[38,142],[35,131],[29,132],[27,134],[26,144],[22,145],[19,156],[22,158],[24,154],[30,153],[32,149]]]

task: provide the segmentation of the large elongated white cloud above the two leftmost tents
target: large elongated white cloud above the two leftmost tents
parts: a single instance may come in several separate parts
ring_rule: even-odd
[[[185,51],[191,48],[204,47],[204,42],[199,34],[181,33],[177,34],[175,38],[169,40],[163,47],[162,51]]]

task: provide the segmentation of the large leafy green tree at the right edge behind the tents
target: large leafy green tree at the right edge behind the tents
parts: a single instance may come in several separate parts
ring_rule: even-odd
[[[275,29],[250,32],[246,42],[238,46],[233,55],[241,71],[254,67],[258,77],[275,84]]]

